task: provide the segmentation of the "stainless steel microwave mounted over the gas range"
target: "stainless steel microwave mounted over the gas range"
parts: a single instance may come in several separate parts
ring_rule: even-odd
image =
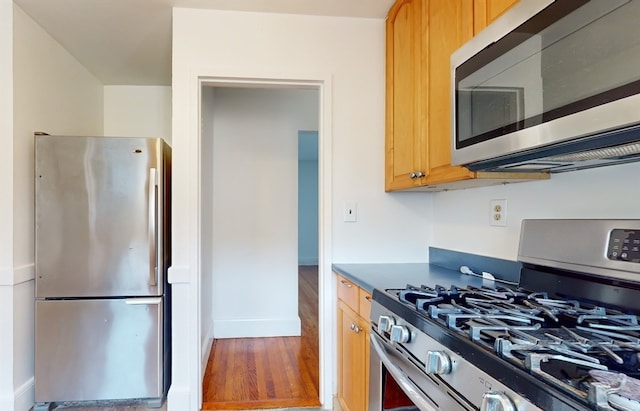
[[[452,163],[640,160],[640,0],[521,0],[451,56]]]

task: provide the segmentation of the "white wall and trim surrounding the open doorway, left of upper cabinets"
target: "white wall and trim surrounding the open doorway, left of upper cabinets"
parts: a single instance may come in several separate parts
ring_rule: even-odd
[[[174,9],[174,356],[169,406],[199,406],[197,353],[198,78],[317,80],[327,85],[320,136],[329,139],[331,164],[322,208],[333,255],[325,261],[425,261],[430,238],[429,196],[384,193],[384,20]],[[327,126],[327,127],[325,127]],[[326,141],[325,141],[326,143]],[[324,144],[324,143],[323,143]],[[322,155],[322,154],[321,154]],[[324,178],[324,176],[323,176]],[[324,180],[323,180],[324,181]],[[358,222],[342,222],[344,201],[358,202]],[[398,241],[400,239],[400,241]],[[324,257],[323,255],[323,257]],[[321,258],[323,258],[321,257]],[[321,400],[335,390],[335,295],[330,271],[321,270]],[[324,294],[323,294],[324,293]],[[323,305],[324,304],[324,305]],[[322,324],[321,324],[322,326]],[[191,334],[190,334],[191,329]]]

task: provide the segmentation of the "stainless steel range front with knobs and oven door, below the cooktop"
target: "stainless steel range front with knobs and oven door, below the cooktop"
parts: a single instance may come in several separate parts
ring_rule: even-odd
[[[370,340],[370,411],[500,410],[495,407],[504,402],[505,392],[516,395],[376,301],[371,316],[378,320]],[[524,400],[519,405],[522,411],[540,410]]]

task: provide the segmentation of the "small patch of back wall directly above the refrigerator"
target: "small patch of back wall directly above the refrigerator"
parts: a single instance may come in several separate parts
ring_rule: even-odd
[[[171,87],[105,86],[104,135],[162,137],[171,144]]]

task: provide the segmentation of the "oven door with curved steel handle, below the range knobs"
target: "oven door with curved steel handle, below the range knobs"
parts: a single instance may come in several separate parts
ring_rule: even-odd
[[[370,411],[473,410],[442,381],[434,380],[414,363],[401,345],[389,345],[371,330],[369,373]]]

